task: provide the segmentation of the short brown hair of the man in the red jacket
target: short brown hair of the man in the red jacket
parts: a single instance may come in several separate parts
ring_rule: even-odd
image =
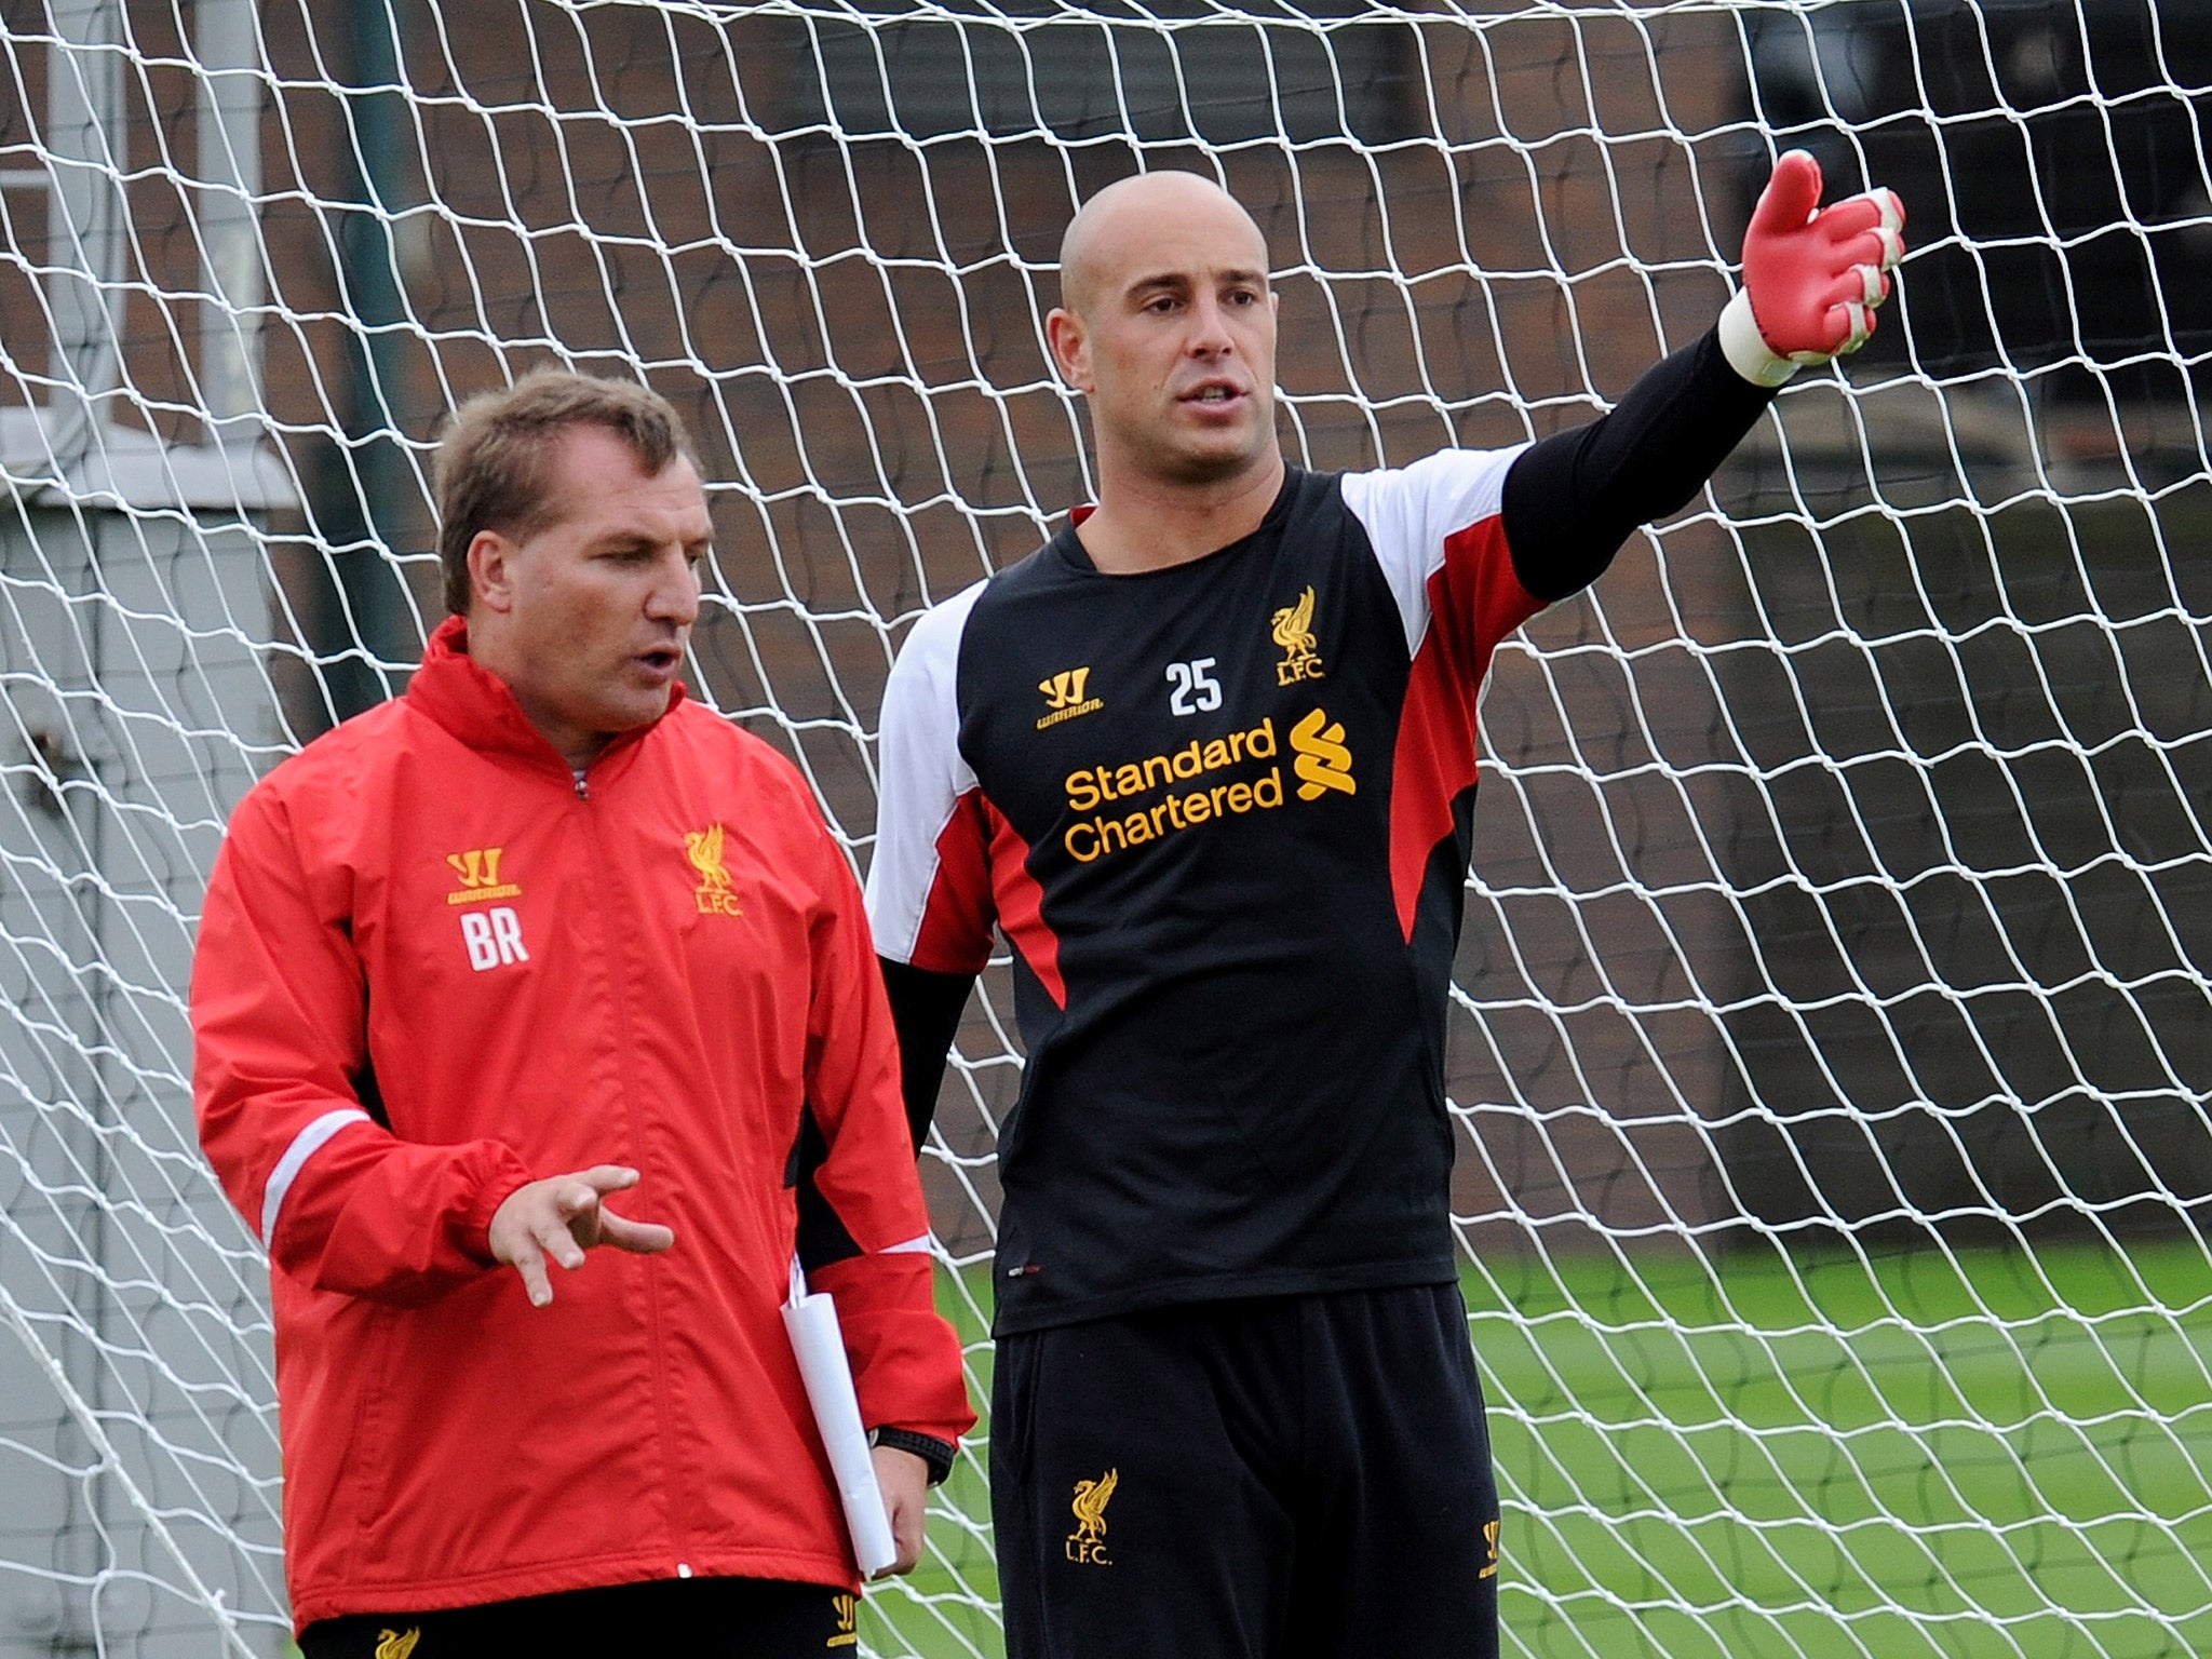
[[[438,564],[445,608],[469,613],[469,544],[480,531],[513,540],[560,515],[546,456],[568,427],[606,427],[648,476],[677,458],[699,465],[684,416],[637,380],[599,380],[568,369],[531,369],[511,387],[478,392],[453,411],[438,442]]]

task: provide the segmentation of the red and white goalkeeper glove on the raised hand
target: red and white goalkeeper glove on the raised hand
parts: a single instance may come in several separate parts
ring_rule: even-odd
[[[1820,206],[1820,164],[1790,150],[1743,230],[1743,292],[1721,312],[1721,349],[1736,374],[1781,385],[1805,365],[1856,352],[1905,257],[1896,190]]]

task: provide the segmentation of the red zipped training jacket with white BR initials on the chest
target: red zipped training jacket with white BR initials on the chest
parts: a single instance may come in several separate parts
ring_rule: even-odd
[[[860,1416],[975,1418],[860,894],[799,772],[688,703],[580,785],[431,639],[239,805],[192,969],[199,1135],[274,1263],[299,1626],[684,1575],[854,1588],[779,1305],[801,1110],[860,1254]],[[628,1164],[675,1250],[531,1307],[487,1228]]]

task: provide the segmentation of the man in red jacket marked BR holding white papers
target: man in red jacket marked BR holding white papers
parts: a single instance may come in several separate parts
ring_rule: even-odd
[[[710,520],[675,411],[540,372],[438,460],[456,615],[241,803],[192,971],[201,1144],[272,1261],[301,1648],[852,1646],[801,1239],[900,1571],[973,1425],[858,887],[677,681]]]

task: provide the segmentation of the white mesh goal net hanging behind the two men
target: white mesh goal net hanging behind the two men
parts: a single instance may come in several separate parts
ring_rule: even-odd
[[[0,0],[0,1659],[285,1650],[192,929],[405,686],[458,398],[679,403],[690,681],[865,867],[891,653],[1093,487],[1077,199],[1223,179],[1292,458],[1400,465],[1688,343],[1787,146],[1909,206],[1880,334],[1484,703],[1506,1652],[2212,1650],[2212,0]],[[1018,1053],[1000,962],[925,1155],[978,1400]],[[865,1650],[998,1652],[987,1458]]]

